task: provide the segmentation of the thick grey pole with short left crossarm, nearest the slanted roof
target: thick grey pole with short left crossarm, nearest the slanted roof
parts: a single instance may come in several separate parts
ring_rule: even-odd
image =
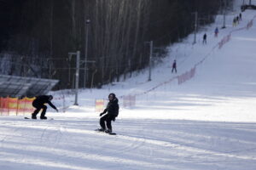
[[[75,82],[75,102],[73,105],[79,105],[78,99],[79,99],[79,69],[80,69],[80,51],[77,51],[77,53],[68,53],[69,56],[72,57],[72,55],[77,55],[77,62],[76,62],[76,82]],[[70,58],[71,58],[70,57]]]

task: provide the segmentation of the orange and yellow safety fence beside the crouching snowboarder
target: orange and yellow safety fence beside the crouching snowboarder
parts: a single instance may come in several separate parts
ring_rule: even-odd
[[[34,110],[32,101],[35,98],[0,98],[0,115],[30,115]]]

